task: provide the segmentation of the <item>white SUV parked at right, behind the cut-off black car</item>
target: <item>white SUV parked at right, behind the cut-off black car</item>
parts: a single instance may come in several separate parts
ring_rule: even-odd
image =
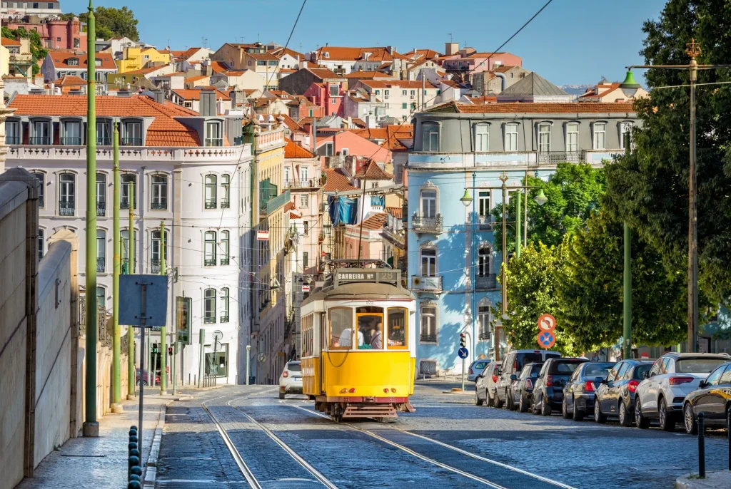
[[[660,428],[673,431],[680,420],[683,401],[698,388],[701,380],[729,361],[728,355],[714,353],[666,353],[658,358],[647,378],[637,386],[635,424],[648,428],[657,418]]]

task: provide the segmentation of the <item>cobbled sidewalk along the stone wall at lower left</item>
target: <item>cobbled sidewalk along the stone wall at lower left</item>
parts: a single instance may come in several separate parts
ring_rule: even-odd
[[[165,405],[181,396],[160,396],[159,390],[145,389],[143,426],[143,471],[147,468],[156,431],[157,449],[165,419]],[[107,414],[99,421],[99,438],[72,438],[43,459],[32,479],[24,479],[16,489],[29,488],[126,488],[127,443],[129,427],[138,424],[139,401],[122,401],[124,412]],[[152,462],[156,463],[157,450]],[[148,468],[148,479],[154,479],[154,466]]]

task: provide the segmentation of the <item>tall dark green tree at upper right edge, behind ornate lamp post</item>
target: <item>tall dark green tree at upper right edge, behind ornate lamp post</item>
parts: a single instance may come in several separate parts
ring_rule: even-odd
[[[698,63],[731,61],[731,4],[669,0],[658,20],[645,22],[641,53],[648,64],[688,63],[686,43],[700,43]],[[689,74],[651,69],[650,97],[635,102],[642,127],[635,150],[607,166],[607,210],[626,220],[662,253],[670,270],[687,261]],[[731,81],[729,69],[698,72],[697,209],[701,291],[721,304],[731,296]],[[684,86],[678,86],[684,85]],[[655,87],[675,86],[677,88]]]

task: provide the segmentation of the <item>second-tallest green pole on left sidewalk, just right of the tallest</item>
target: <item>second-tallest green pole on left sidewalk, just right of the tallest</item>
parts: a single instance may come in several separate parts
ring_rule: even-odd
[[[114,152],[114,194],[113,194],[113,272],[112,272],[112,412],[122,412],[121,388],[121,336],[119,331],[119,126],[114,123],[113,132]],[[129,348],[127,354],[129,355]],[[133,382],[131,379],[128,382]]]

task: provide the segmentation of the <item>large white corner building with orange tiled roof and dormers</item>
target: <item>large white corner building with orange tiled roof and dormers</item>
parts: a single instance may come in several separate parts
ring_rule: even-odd
[[[157,94],[156,94],[157,95]],[[240,283],[250,272],[242,259],[251,227],[251,145],[241,137],[242,118],[219,116],[216,101],[201,113],[149,96],[96,99],[96,253],[99,304],[110,312],[113,272],[113,123],[120,123],[122,260],[129,263],[129,207],[134,210],[132,248],[135,272],[159,274],[161,223],[169,277],[170,314],[175,296],[192,299],[192,345],[178,361],[178,379],[216,375],[219,383],[245,380],[238,348],[249,342],[248,290]],[[7,120],[7,164],[35,174],[39,189],[39,255],[61,228],[79,236],[80,285],[86,274],[86,98],[18,95]],[[89,293],[83,290],[83,293]],[[246,293],[245,293],[246,292]],[[83,303],[83,301],[81,301]],[[168,328],[170,339],[174,327]],[[199,364],[199,331],[205,330],[204,366]],[[240,332],[246,331],[245,337]],[[214,334],[218,341],[214,342]],[[138,340],[137,340],[138,341]],[[159,333],[152,333],[159,342]],[[139,344],[136,344],[139,351]],[[158,363],[159,365],[159,363]],[[168,363],[170,365],[170,362]],[[205,368],[202,368],[205,367]],[[172,366],[171,366],[172,369]]]

